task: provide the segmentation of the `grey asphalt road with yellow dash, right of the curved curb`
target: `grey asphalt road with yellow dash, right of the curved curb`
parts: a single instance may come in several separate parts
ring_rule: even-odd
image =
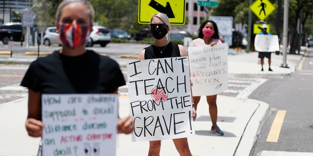
[[[302,58],[291,78],[268,79],[249,98],[270,105],[250,156],[269,156],[263,155],[264,151],[285,152],[279,156],[299,156],[303,152],[313,155],[313,51]],[[282,113],[285,115],[280,116]]]

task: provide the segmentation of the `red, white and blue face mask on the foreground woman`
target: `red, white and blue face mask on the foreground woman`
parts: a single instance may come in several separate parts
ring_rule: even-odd
[[[58,22],[59,38],[63,45],[71,49],[77,49],[86,42],[90,34],[90,27],[90,25],[83,26],[80,24]]]

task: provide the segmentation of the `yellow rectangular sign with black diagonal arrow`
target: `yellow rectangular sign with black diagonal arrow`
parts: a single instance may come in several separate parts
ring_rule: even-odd
[[[149,24],[151,17],[156,13],[164,13],[170,19],[171,24],[185,24],[185,0],[139,0],[138,22]]]

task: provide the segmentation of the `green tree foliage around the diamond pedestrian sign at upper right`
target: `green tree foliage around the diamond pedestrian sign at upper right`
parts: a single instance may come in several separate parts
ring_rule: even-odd
[[[278,19],[278,0],[269,0],[275,10],[265,22],[271,25],[271,34],[282,35],[284,0],[282,0],[281,17]],[[305,43],[309,35],[313,35],[313,0],[289,0],[289,42],[291,43],[290,53],[294,54]],[[213,16],[232,16],[235,23],[248,23],[249,0],[219,0],[219,6],[213,9]],[[300,21],[298,23],[298,21]],[[259,19],[252,14],[251,23],[259,22]],[[301,24],[300,24],[301,23]],[[301,26],[299,26],[301,25]],[[277,30],[277,31],[276,31]],[[253,40],[252,40],[253,42]]]

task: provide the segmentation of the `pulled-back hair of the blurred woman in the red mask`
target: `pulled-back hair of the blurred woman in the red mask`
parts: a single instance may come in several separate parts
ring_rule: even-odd
[[[90,25],[93,25],[93,17],[94,17],[94,10],[93,10],[93,7],[92,5],[90,4],[89,1],[87,0],[63,0],[59,6],[58,6],[58,9],[57,9],[57,13],[55,14],[55,17],[56,17],[56,21],[58,22],[60,20],[60,17],[61,17],[61,9],[67,5],[68,3],[71,3],[71,2],[80,2],[81,4],[85,5],[88,10],[89,10],[89,15],[90,15]]]

